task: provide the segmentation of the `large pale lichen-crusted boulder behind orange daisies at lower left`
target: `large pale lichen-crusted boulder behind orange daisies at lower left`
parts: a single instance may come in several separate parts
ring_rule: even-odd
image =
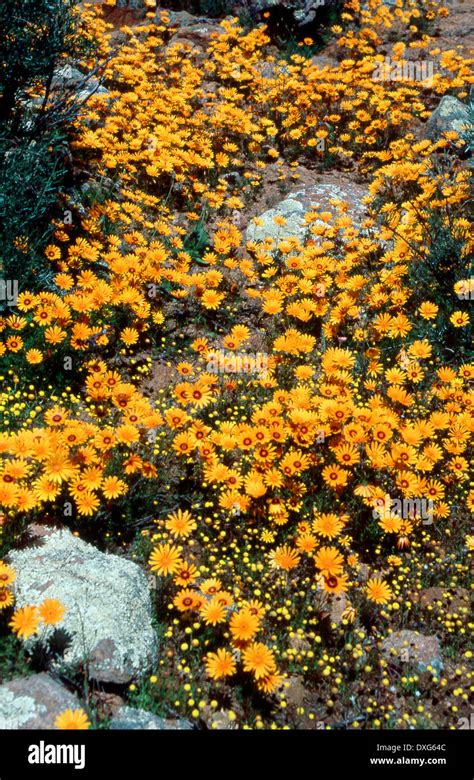
[[[156,660],[156,635],[144,572],[60,530],[41,546],[10,555],[18,607],[57,598],[66,608],[60,628],[70,638],[62,661],[84,666],[91,678],[124,683]],[[51,633],[43,629],[39,639]],[[36,638],[27,640],[37,641]]]

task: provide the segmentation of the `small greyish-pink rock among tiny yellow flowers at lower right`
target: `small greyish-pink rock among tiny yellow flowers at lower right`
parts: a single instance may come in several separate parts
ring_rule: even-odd
[[[428,666],[436,672],[443,669],[439,639],[434,634],[426,636],[408,629],[395,631],[382,641],[381,650],[387,659],[413,664],[420,672],[425,672]]]

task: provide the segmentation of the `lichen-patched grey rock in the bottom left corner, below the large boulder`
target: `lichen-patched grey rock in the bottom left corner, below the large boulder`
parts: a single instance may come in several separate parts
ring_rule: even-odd
[[[19,677],[0,686],[0,730],[54,729],[61,712],[78,707],[76,696],[49,674]]]

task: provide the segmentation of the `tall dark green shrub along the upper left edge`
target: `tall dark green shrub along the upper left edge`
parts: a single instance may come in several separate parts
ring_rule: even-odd
[[[66,129],[81,103],[54,77],[93,42],[77,0],[0,0],[0,29],[0,274],[19,291],[45,289],[44,248],[71,168]]]

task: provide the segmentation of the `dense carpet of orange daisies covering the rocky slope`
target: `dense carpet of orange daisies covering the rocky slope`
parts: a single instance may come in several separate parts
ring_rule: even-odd
[[[58,2],[55,68],[93,89],[33,63],[11,97],[0,44],[0,715],[46,671],[75,697],[57,728],[109,728],[114,697],[170,728],[467,728],[474,59],[439,40],[452,6],[348,0],[324,49],[265,16],[192,37],[151,2],[124,24]],[[427,132],[447,99],[468,119]],[[128,677],[61,654],[76,602],[59,565],[33,598],[25,562],[51,534],[140,570],[153,649]]]

